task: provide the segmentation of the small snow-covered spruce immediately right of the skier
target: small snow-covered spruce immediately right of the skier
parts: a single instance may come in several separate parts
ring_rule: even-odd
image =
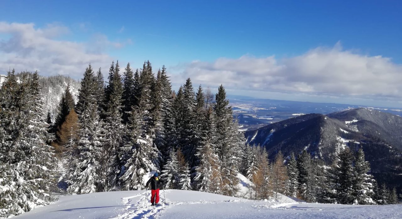
[[[166,164],[163,166],[160,178],[165,183],[165,189],[178,189],[180,174],[178,171],[177,152],[170,150]]]

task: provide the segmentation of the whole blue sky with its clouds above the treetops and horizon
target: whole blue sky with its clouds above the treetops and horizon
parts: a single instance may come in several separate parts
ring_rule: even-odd
[[[62,59],[65,62],[66,54],[74,53],[92,55],[92,59],[88,59],[91,63],[98,57],[95,54],[102,54],[98,58],[102,64],[95,63],[103,68],[117,58],[124,64],[131,62],[135,67],[149,59],[154,68],[162,64],[168,66],[174,78],[192,76],[196,83],[207,86],[215,86],[216,82],[225,85],[223,79],[248,78],[243,80],[248,83],[246,85],[229,82],[228,89],[234,92],[242,90],[242,94],[258,97],[291,99],[297,94],[304,96],[303,100],[319,102],[328,102],[325,100],[332,98],[333,102],[401,104],[401,86],[385,86],[389,81],[396,83],[402,79],[400,1],[1,1],[1,4],[0,22],[4,22],[4,27],[3,30],[0,27],[0,45],[3,44],[0,53],[9,56],[7,60],[0,58],[3,66],[12,65],[12,60],[24,56],[16,53],[27,51],[26,42],[19,36],[35,38],[35,35],[43,34],[45,40],[58,46],[38,49],[44,41],[37,40],[29,49],[30,53],[35,50],[32,55],[43,57],[40,51],[51,50],[51,53],[59,46],[64,51],[61,48],[63,43],[59,45],[57,42],[72,43],[71,48],[85,47],[85,51],[80,52],[69,48],[71,51],[62,52],[64,55],[55,52],[54,56],[59,58],[49,60],[53,64]],[[27,35],[25,29],[21,30],[23,28],[12,23],[33,23],[33,26],[24,26],[33,34]],[[52,31],[45,31],[49,29]],[[20,50],[4,48],[7,47],[5,44],[16,41]],[[323,62],[311,60],[314,55],[328,57],[324,60],[328,62],[326,66],[331,66],[330,70],[339,66],[340,74],[360,73],[355,76],[355,82],[345,81],[336,90],[328,88],[333,84],[317,86],[320,81],[317,82],[316,78],[324,84],[330,82],[321,74],[336,74],[328,73],[323,66],[318,66],[318,70],[317,66],[308,66],[294,75],[283,70],[298,71],[311,62]],[[375,59],[378,56],[381,56],[380,60]],[[273,60],[268,57],[273,57]],[[243,69],[244,65],[232,68],[244,60],[252,70]],[[24,63],[14,65],[17,69],[37,68],[43,74],[61,73],[77,78],[83,71],[78,74],[71,66],[59,70],[57,66],[62,64],[58,63],[51,70],[35,64],[27,65],[35,63],[33,61],[25,60]],[[77,68],[81,67],[79,61],[68,61],[70,65],[74,63]],[[370,63],[375,64],[369,66]],[[254,69],[256,65],[261,69]],[[345,66],[350,68],[344,69]],[[8,70],[8,67],[3,68]],[[264,72],[268,68],[271,70]],[[311,77],[310,70],[316,70],[314,75],[318,76]],[[215,74],[222,75],[218,77],[222,81],[216,81]],[[384,80],[383,74],[386,75]],[[235,78],[230,78],[230,75]],[[265,79],[258,84],[261,77]],[[333,83],[342,83],[345,77],[334,78]],[[358,77],[380,77],[382,84],[370,80],[359,85]],[[370,83],[378,89],[371,92],[361,88],[365,84],[370,86]],[[279,87],[278,84],[285,86]],[[386,89],[391,90],[386,92]]]

